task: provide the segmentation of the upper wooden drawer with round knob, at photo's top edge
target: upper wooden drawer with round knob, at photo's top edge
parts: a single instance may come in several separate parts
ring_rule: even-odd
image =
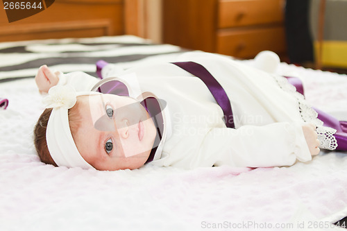
[[[218,27],[283,22],[284,0],[219,0]]]

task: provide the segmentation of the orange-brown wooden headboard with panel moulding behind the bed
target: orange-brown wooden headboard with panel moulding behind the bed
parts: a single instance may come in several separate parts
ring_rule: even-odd
[[[140,3],[139,0],[56,0],[36,15],[11,23],[1,6],[0,42],[140,35]]]

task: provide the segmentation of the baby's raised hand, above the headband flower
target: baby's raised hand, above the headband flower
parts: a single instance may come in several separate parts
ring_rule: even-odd
[[[53,73],[46,65],[43,65],[37,71],[35,82],[40,93],[47,93],[51,87],[58,84],[59,72]]]

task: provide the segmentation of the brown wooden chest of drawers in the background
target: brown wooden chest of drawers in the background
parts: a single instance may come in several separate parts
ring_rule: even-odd
[[[163,42],[253,58],[286,52],[285,0],[164,0]]]

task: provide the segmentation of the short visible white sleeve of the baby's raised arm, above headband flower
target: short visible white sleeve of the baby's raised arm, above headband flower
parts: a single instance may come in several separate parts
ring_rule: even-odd
[[[76,89],[76,92],[90,91],[92,87],[100,81],[82,71],[70,72],[68,74],[60,74],[58,85],[70,85]]]

